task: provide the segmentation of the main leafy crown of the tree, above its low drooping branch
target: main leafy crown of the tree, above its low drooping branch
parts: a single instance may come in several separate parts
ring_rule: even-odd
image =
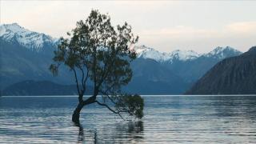
[[[120,90],[120,86],[130,82],[132,70],[130,62],[136,58],[134,50],[130,49],[138,41],[131,33],[131,26],[126,22],[111,26],[110,16],[92,10],[85,22],[77,22],[70,39],[61,38],[58,50],[54,52],[54,65],[50,66],[53,74],[58,73],[62,63],[70,70],[81,70],[86,83],[86,72],[97,89],[96,91]]]

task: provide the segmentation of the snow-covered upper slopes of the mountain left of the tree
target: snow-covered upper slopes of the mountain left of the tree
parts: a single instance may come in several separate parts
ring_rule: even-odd
[[[19,26],[17,23],[0,25],[0,38],[7,42],[18,42],[33,51],[41,51],[43,46],[54,46],[58,41],[49,35],[37,33]]]

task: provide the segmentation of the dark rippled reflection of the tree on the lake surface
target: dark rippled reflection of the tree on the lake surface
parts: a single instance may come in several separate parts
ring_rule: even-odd
[[[81,124],[78,126],[78,143],[94,142],[142,142],[143,140],[143,122],[119,122],[115,123],[113,127],[107,130],[84,130]],[[86,133],[85,133],[86,131]],[[98,132],[98,133],[97,133]]]

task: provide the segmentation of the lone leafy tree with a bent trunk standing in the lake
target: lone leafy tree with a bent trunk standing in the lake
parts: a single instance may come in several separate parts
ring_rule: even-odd
[[[77,22],[67,35],[70,38],[61,38],[58,49],[54,51],[50,71],[57,75],[58,67],[64,64],[74,73],[78,106],[72,121],[79,123],[82,107],[92,103],[106,106],[121,118],[122,113],[142,118],[143,99],[138,94],[122,94],[121,90],[132,78],[130,62],[136,58],[130,47],[138,42],[138,36],[134,37],[131,26],[125,22],[114,29],[108,14],[92,10],[90,16]],[[94,87],[93,94],[84,99],[88,85]]]

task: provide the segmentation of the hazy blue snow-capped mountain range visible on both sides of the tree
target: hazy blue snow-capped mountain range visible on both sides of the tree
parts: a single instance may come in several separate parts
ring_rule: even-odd
[[[0,90],[27,80],[74,84],[66,67],[61,67],[58,77],[48,70],[58,38],[13,23],[0,26],[0,45]],[[216,63],[242,54],[230,46],[216,47],[207,54],[193,50],[163,53],[147,46],[134,46],[134,50],[138,54],[131,63],[134,75],[123,90],[138,94],[182,94]]]

